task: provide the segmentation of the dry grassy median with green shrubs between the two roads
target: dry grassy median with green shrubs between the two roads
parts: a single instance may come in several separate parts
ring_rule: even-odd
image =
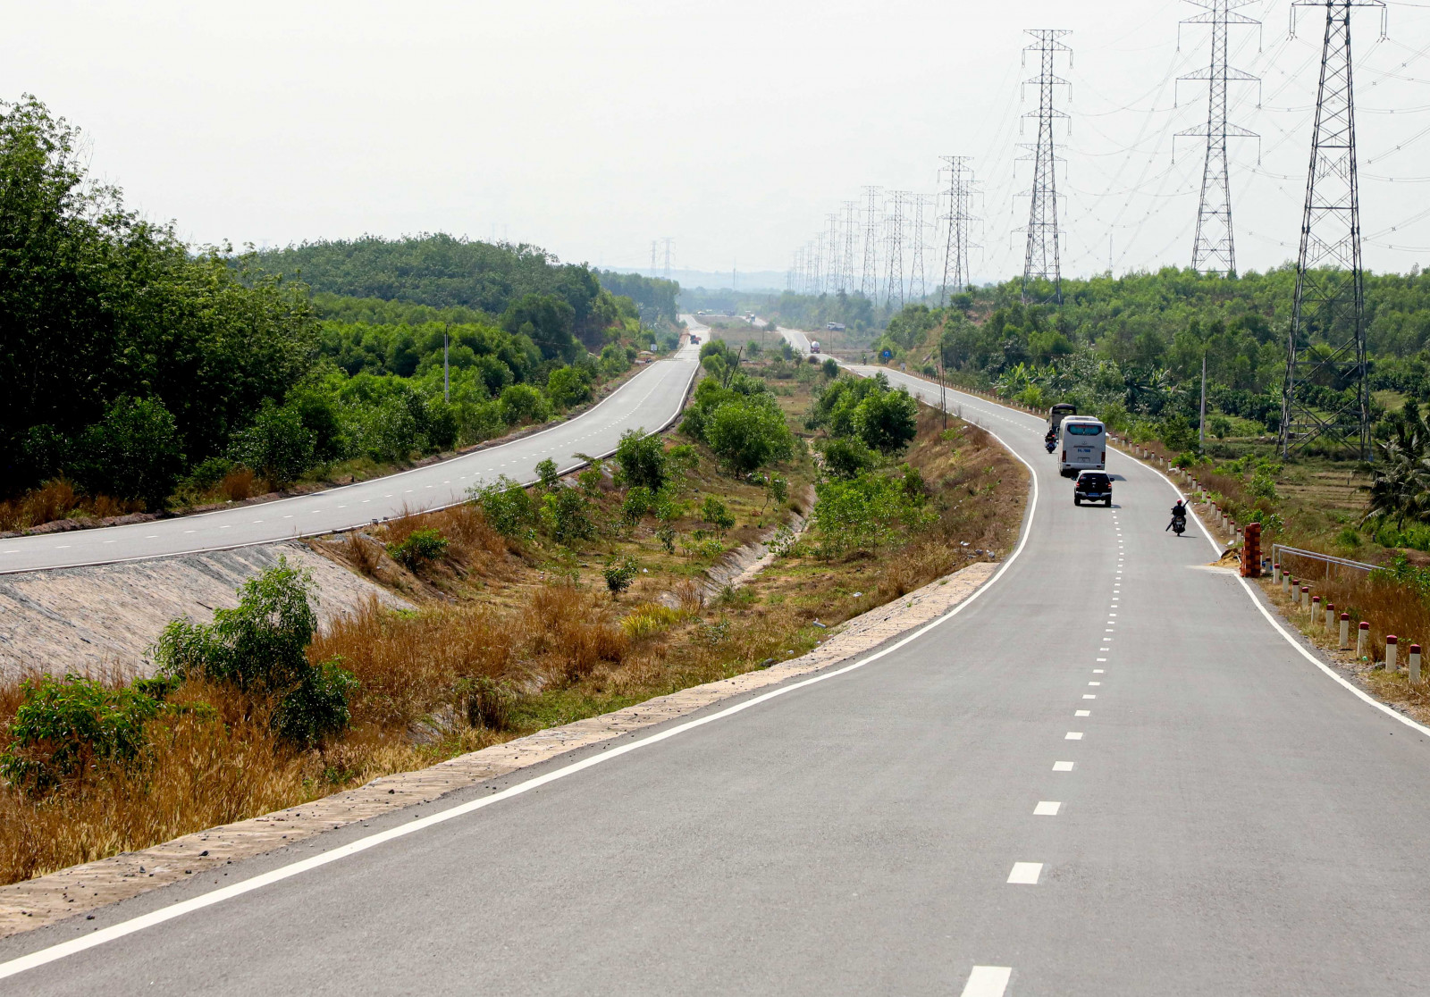
[[[631,440],[568,480],[313,541],[415,611],[373,603],[317,633],[302,574],[279,568],[214,624],[173,624],[153,678],[114,668],[0,688],[0,877],[797,657],[1014,543],[1025,474],[982,430],[945,430],[899,393],[822,367],[706,367],[681,433]],[[808,531],[791,528],[811,514]],[[764,570],[709,581],[761,537]]]

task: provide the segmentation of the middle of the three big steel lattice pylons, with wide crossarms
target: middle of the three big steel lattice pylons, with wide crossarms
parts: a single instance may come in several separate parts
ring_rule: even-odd
[[[1191,247],[1191,269],[1197,273],[1230,276],[1237,271],[1236,244],[1231,237],[1231,180],[1227,169],[1227,139],[1254,139],[1237,124],[1227,124],[1227,86],[1251,83],[1260,77],[1227,64],[1227,29],[1231,24],[1260,24],[1236,13],[1254,0],[1187,0],[1207,13],[1188,17],[1183,24],[1211,26],[1211,63],[1188,73],[1183,80],[1207,81],[1207,123],[1178,131],[1178,137],[1207,139],[1207,159],[1201,169],[1201,203],[1197,207],[1197,237]]]

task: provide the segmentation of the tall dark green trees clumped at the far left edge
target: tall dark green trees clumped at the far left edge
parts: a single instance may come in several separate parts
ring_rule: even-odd
[[[0,487],[67,471],[153,497],[177,454],[222,453],[300,380],[317,330],[302,289],[250,257],[192,254],[90,183],[82,156],[39,101],[0,104]],[[99,450],[82,443],[96,426]]]

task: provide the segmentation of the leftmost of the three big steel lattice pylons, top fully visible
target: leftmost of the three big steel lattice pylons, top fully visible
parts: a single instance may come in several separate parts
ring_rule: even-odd
[[[1054,107],[1054,87],[1070,86],[1067,80],[1054,73],[1057,56],[1068,53],[1071,63],[1072,50],[1058,39],[1071,31],[1054,29],[1032,29],[1025,31],[1037,41],[1022,50],[1024,63],[1028,53],[1038,57],[1038,74],[1025,83],[1038,86],[1038,110],[1028,111],[1024,117],[1038,120],[1038,141],[1034,146],[1024,144],[1032,151],[1021,159],[1032,160],[1032,190],[1028,204],[1028,246],[1022,256],[1022,301],[1051,300],[1062,303],[1062,263],[1058,251],[1058,157],[1052,147],[1052,126],[1058,119],[1067,119],[1064,111]],[[1051,296],[1045,294],[1045,286],[1051,286]]]

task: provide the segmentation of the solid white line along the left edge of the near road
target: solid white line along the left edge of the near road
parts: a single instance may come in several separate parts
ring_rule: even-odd
[[[123,938],[124,936],[134,934],[136,931],[143,931],[144,928],[154,927],[156,924],[172,921],[177,917],[183,917],[184,914],[193,913],[196,910],[203,910],[204,907],[210,907],[225,900],[232,900],[233,897],[243,896],[245,893],[252,893],[273,883],[280,883],[282,880],[290,878],[300,873],[306,873],[312,868],[319,868],[329,863],[335,863],[339,858],[346,858],[347,856],[355,856],[360,851],[366,851],[368,848],[385,844],[386,841],[393,841],[396,838],[406,837],[408,834],[415,834],[416,831],[433,827],[435,824],[452,820],[453,817],[462,817],[476,810],[482,810],[483,807],[489,807],[500,800],[509,800],[515,796],[521,796],[548,783],[553,783],[558,778],[565,778],[566,776],[573,776],[579,771],[591,768],[592,766],[599,766],[602,763],[611,761],[612,758],[618,758],[629,751],[635,751],[636,748],[649,747],[651,744],[659,744],[661,741],[675,737],[676,734],[684,734],[688,730],[695,730],[696,727],[704,727],[705,724],[715,723],[716,720],[724,720],[725,717],[735,716],[736,713],[744,713],[745,710],[754,706],[759,706],[761,703],[766,703],[772,698],[785,696],[798,688],[805,688],[808,686],[814,686],[815,683],[834,678],[835,676],[842,676],[845,673],[854,671],[855,668],[862,668],[864,666],[871,664],[872,661],[878,661],[881,657],[887,654],[892,654],[905,644],[918,640],[934,627],[938,627],[947,623],[948,620],[952,620],[955,616],[958,616],[967,607],[975,603],[985,591],[988,591],[994,586],[994,583],[997,583],[998,578],[1004,576],[1008,567],[1024,551],[1024,548],[1028,546],[1028,536],[1032,533],[1032,520],[1038,511],[1037,469],[1034,469],[1032,464],[1030,464],[1015,450],[1012,450],[1012,447],[1004,443],[995,433],[992,433],[991,430],[985,431],[995,440],[998,440],[998,444],[1004,447],[1004,450],[1007,450],[1020,461],[1022,461],[1022,464],[1028,469],[1028,476],[1032,484],[1031,498],[1028,500],[1028,511],[1024,516],[1022,536],[1018,538],[1018,546],[1014,548],[1012,554],[1010,554],[1008,558],[1002,563],[1002,566],[997,571],[994,571],[992,577],[988,578],[988,581],[985,581],[977,590],[974,590],[974,593],[968,598],[961,601],[958,606],[955,606],[937,620],[925,623],[922,627],[912,631],[907,637],[901,637],[898,641],[889,644],[884,650],[875,651],[874,654],[869,654],[868,657],[861,658],[858,661],[852,661],[851,664],[847,664],[844,667],[832,668],[829,671],[811,676],[809,678],[804,678],[789,686],[781,686],[778,688],[772,688],[771,691],[762,693],[761,696],[755,696],[734,706],[725,707],[718,713],[712,713],[705,717],[696,717],[695,720],[686,720],[685,723],[676,724],[675,727],[669,727],[659,733],[651,734],[649,737],[644,737],[639,741],[629,741],[626,744],[616,746],[608,751],[592,754],[588,758],[582,758],[581,761],[573,761],[568,766],[562,766],[561,768],[549,771],[543,776],[536,776],[533,778],[526,780],[525,783],[511,786],[499,793],[493,793],[492,796],[486,796],[479,800],[469,800],[468,803],[449,807],[446,810],[442,810],[440,813],[435,813],[428,817],[420,817],[418,820],[413,820],[409,824],[402,824],[400,827],[392,827],[385,831],[378,831],[376,834],[369,834],[366,837],[358,838],[356,841],[349,841],[347,844],[332,848],[330,851],[325,851],[319,856],[289,863],[287,866],[282,866],[279,868],[269,870],[267,873],[260,873],[259,876],[246,878],[242,883],[233,883],[219,890],[204,893],[203,896],[192,897],[189,900],[182,900],[176,904],[162,907],[160,910],[150,911],[147,914],[140,914],[139,917],[132,917],[127,921],[120,921],[119,924],[112,924],[106,928],[99,928],[97,931],[92,931],[90,934],[86,934],[83,937],[72,938],[69,941],[61,941],[59,944],[40,948],[37,951],[30,953],[29,956],[17,956],[16,958],[11,958],[6,963],[0,963],[0,980],[6,980],[19,973],[24,973],[26,970],[39,968],[40,966],[59,961],[67,956],[79,954],[89,948],[102,946],[107,941]],[[413,804],[413,806],[422,806],[422,804]]]

